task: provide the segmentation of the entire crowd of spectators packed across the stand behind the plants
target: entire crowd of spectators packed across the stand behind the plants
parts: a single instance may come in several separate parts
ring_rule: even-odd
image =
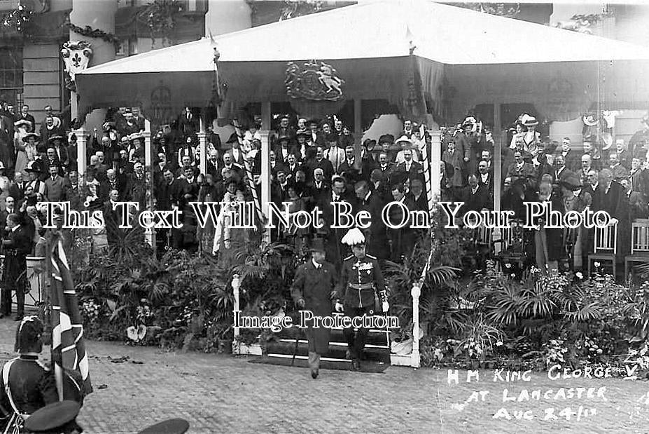
[[[364,230],[368,253],[379,260],[400,262],[410,255],[421,231],[405,225],[391,229],[381,210],[392,201],[409,210],[427,211],[422,158],[430,151],[425,126],[403,121],[398,134],[383,134],[360,143],[351,128],[333,116],[306,119],[277,116],[270,134],[271,200],[280,208],[288,203],[290,215],[322,211],[322,222],[302,229],[295,224],[272,231],[272,239],[307,247],[325,241],[328,259],[340,267],[346,251],[340,240],[344,230],[332,229],[331,202],[347,202],[352,214],[372,215]],[[581,146],[566,137],[550,141],[529,114],[519,116],[501,149],[501,208],[524,217],[526,201],[552,201],[553,209],[567,212],[605,210],[617,222],[618,255],[629,251],[630,224],[649,217],[647,140],[649,121],[625,143],[606,147],[597,136],[585,136]],[[0,112],[0,219],[16,214],[31,242],[32,254],[42,254],[41,201],[69,201],[74,210],[102,210],[107,227],[120,219],[113,203],[132,201],[157,210],[183,210],[181,229],[158,230],[160,247],[196,249],[207,238],[207,250],[230,247],[234,236],[227,227],[200,228],[195,201],[252,201],[251,184],[261,194],[261,126],[258,118],[237,126],[225,143],[208,128],[206,170],[200,173],[199,118],[190,108],[174,123],[162,126],[152,140],[153,168],[145,170],[144,118],[130,109],[109,110],[101,130],[88,139],[85,179],[78,177],[78,138],[62,116],[46,107],[46,117],[35,125],[29,107],[16,114],[3,104]],[[441,199],[462,201],[461,214],[494,208],[494,137],[489,126],[475,116],[442,128]],[[580,150],[580,148],[582,148]],[[246,168],[246,158],[251,164]],[[436,169],[435,169],[436,170]],[[252,174],[252,182],[247,177]],[[151,177],[151,186],[147,179]],[[152,196],[151,193],[153,193]],[[399,222],[398,207],[389,219]],[[6,236],[7,228],[0,229]],[[215,231],[222,231],[214,236]],[[593,250],[588,231],[529,233],[524,249],[538,266],[554,267],[569,259],[575,269],[585,267]],[[206,236],[207,234],[207,236]],[[109,245],[119,231],[108,231]],[[245,237],[246,235],[244,235]],[[567,247],[567,248],[566,248]],[[565,262],[565,261],[563,261]]]

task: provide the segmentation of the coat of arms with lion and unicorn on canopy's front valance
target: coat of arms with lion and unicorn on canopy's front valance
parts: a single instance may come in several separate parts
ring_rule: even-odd
[[[344,80],[325,62],[312,60],[298,66],[288,62],[286,67],[286,94],[291,98],[313,101],[340,101],[344,98]]]

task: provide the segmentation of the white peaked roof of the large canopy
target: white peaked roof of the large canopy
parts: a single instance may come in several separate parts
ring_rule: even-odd
[[[447,65],[647,60],[649,50],[430,0],[375,1],[183,43],[91,67],[89,74],[200,72],[219,62],[364,59],[414,54]]]

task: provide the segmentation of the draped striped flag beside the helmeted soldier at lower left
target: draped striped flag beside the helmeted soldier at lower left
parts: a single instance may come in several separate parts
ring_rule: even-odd
[[[83,322],[61,236],[50,249],[52,264],[52,361],[59,399],[76,399],[72,393],[92,392]],[[81,384],[80,384],[81,383]],[[78,391],[69,389],[70,385]]]

